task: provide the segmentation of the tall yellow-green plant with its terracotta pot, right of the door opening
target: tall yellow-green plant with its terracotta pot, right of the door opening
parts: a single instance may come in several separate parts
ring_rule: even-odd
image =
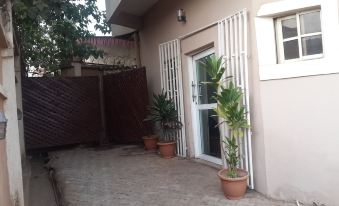
[[[228,199],[241,199],[246,193],[248,172],[237,168],[240,160],[237,138],[242,138],[244,130],[250,127],[247,111],[242,104],[243,92],[232,81],[227,81],[230,77],[223,79],[225,68],[222,57],[212,56],[203,65],[212,79],[206,84],[217,91],[214,98],[217,100],[215,112],[220,118],[218,126],[226,123],[229,129],[229,135],[221,140],[227,168],[220,170],[218,176],[225,196]]]

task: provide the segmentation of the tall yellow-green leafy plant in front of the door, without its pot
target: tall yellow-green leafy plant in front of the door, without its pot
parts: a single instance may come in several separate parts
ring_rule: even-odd
[[[221,123],[218,126],[226,123],[230,130],[230,136],[225,136],[222,139],[225,144],[222,150],[228,166],[227,176],[235,178],[237,177],[237,166],[240,160],[236,139],[242,138],[244,130],[249,128],[246,109],[242,106],[243,93],[241,88],[236,87],[229,80],[231,77],[223,78],[226,69],[223,67],[222,57],[211,56],[206,62],[202,63],[212,79],[211,82],[206,82],[206,84],[215,87],[215,91],[217,91],[214,94],[214,98],[217,100],[215,112],[221,118]]]

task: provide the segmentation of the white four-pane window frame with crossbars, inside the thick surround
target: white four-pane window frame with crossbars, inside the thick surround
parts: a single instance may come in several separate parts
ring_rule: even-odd
[[[301,34],[301,31],[300,31],[300,16],[304,15],[304,14],[314,13],[314,12],[319,12],[320,13],[320,32]],[[297,22],[297,32],[298,32],[298,35],[295,36],[295,37],[290,37],[290,38],[284,39],[283,35],[282,35],[282,25],[281,25],[281,22],[283,20],[293,19],[293,18],[295,18],[296,22]],[[276,18],[275,23],[276,23],[275,24],[275,30],[276,30],[276,39],[277,39],[277,49],[278,49],[278,63],[303,61],[303,60],[318,59],[318,58],[324,57],[321,9],[297,12],[297,13],[295,13],[293,15],[289,15],[289,16],[285,16],[285,17],[279,17],[279,18]],[[301,39],[303,37],[318,36],[318,35],[321,35],[322,50],[323,50],[322,53],[320,53],[320,54],[313,54],[313,55],[303,55]],[[284,52],[284,42],[291,41],[291,40],[298,40],[299,58],[294,58],[294,59],[286,60],[285,59],[285,52]]]

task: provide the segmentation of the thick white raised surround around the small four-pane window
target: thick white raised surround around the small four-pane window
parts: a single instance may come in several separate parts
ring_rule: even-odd
[[[256,47],[261,81],[339,73],[339,2],[281,0],[262,4],[255,21]],[[323,57],[278,63],[275,19],[298,12],[321,9]]]

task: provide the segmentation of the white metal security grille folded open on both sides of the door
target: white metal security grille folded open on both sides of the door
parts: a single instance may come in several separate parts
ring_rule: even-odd
[[[227,67],[226,76],[232,76],[234,83],[244,92],[243,105],[247,109],[247,118],[249,124],[250,103],[249,103],[249,83],[248,83],[248,42],[247,42],[247,11],[246,9],[235,13],[232,16],[224,18],[218,22],[200,28],[187,35],[179,37],[173,41],[165,42],[159,45],[161,86],[167,92],[170,98],[173,98],[178,109],[178,116],[184,124],[184,105],[182,90],[182,71],[181,71],[181,52],[180,39],[187,38],[195,33],[211,26],[218,25],[218,48],[219,55],[225,57]],[[224,128],[227,131],[227,128]],[[178,145],[177,154],[186,156],[185,125],[177,133]],[[245,132],[245,137],[238,139],[241,157],[240,167],[249,172],[248,185],[254,188],[253,165],[252,165],[252,141],[251,130]],[[224,165],[226,163],[224,161]]]

